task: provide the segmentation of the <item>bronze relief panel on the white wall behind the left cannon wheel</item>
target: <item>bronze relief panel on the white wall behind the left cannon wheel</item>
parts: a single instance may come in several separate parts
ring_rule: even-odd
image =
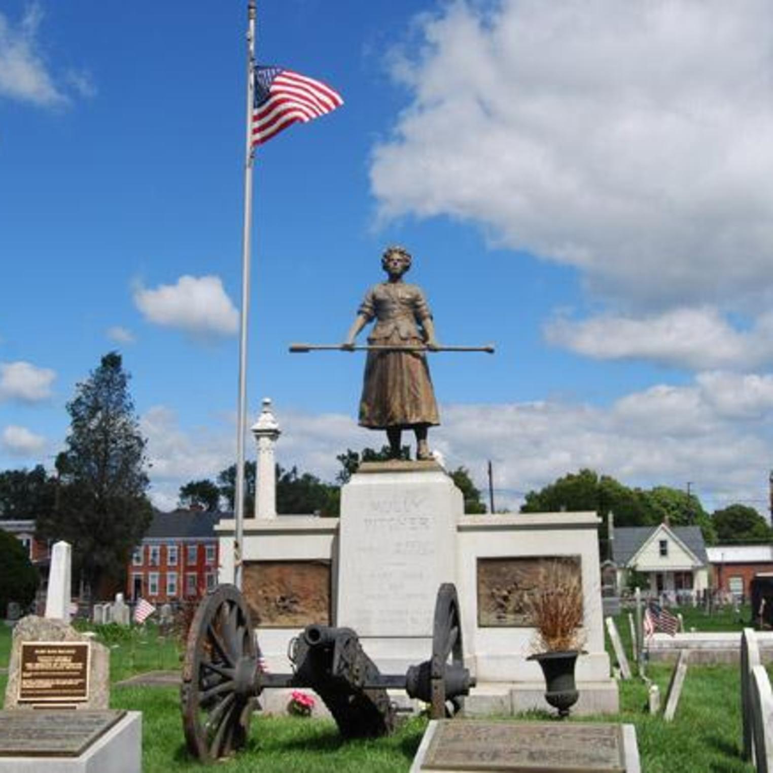
[[[330,576],[329,561],[246,561],[243,593],[254,625],[330,625]]]

